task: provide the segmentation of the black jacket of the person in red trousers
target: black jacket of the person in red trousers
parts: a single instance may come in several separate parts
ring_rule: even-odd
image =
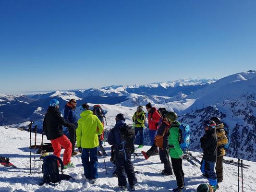
[[[76,124],[61,117],[59,108],[49,106],[43,122],[43,131],[47,139],[52,140],[61,137],[63,135],[62,125],[69,128],[76,126]]]

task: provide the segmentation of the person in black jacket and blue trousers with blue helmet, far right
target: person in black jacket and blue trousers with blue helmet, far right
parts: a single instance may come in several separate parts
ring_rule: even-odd
[[[206,120],[203,123],[206,133],[200,139],[204,155],[201,162],[201,171],[209,180],[213,190],[217,189],[217,175],[215,173],[215,162],[217,160],[217,134],[216,123],[213,120]]]

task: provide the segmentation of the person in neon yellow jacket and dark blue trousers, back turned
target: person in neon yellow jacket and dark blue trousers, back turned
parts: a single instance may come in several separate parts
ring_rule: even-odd
[[[82,154],[85,178],[91,184],[94,184],[98,178],[98,135],[101,135],[103,132],[103,125],[98,117],[89,110],[89,106],[86,103],[82,107],[84,111],[80,114],[81,118],[77,121],[76,142],[78,150]]]

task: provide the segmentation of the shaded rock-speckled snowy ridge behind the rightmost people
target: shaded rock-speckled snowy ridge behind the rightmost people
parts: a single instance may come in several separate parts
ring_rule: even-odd
[[[213,116],[220,117],[231,132],[227,156],[256,161],[256,101],[232,99],[181,116],[181,122],[191,126],[191,150],[201,151],[199,140],[204,132],[201,123]]]

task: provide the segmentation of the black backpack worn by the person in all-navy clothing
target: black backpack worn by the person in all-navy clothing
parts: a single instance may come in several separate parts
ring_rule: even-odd
[[[119,146],[119,153],[125,156],[126,160],[126,152],[134,153],[134,130],[131,126],[127,126],[126,124],[120,128],[120,137],[121,144]]]

